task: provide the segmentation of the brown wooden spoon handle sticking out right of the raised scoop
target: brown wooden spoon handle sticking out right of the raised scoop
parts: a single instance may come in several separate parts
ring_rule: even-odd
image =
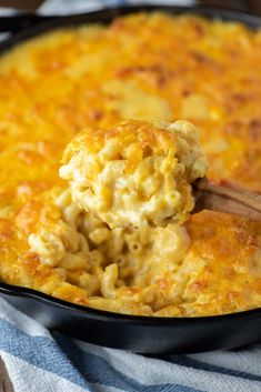
[[[261,222],[261,195],[242,189],[212,185],[207,178],[193,183],[195,207],[192,213],[211,210]]]

